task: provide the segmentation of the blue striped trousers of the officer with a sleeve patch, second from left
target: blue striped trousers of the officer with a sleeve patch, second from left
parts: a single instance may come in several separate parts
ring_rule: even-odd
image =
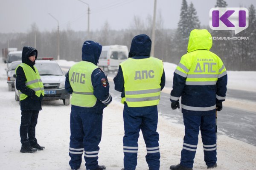
[[[70,167],[81,166],[84,152],[87,169],[98,167],[99,142],[102,137],[102,113],[71,110],[70,113]]]

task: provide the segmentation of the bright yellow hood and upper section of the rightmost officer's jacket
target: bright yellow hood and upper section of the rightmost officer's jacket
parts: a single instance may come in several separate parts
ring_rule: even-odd
[[[227,74],[221,59],[209,49],[211,34],[207,30],[191,31],[188,53],[181,57],[175,73],[186,77],[186,85],[216,85],[218,78]]]

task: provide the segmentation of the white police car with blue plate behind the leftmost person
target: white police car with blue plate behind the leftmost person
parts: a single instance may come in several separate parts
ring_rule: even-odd
[[[52,60],[40,60],[35,62],[44,85],[43,100],[63,100],[64,105],[70,105],[70,94],[65,90],[65,75],[57,62]],[[15,100],[19,101],[18,91],[15,88]]]

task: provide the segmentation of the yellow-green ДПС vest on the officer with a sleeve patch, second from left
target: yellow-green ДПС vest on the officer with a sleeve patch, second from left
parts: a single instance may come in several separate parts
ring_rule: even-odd
[[[71,105],[91,108],[96,104],[97,98],[93,95],[91,75],[99,68],[91,62],[81,61],[70,68],[69,81],[73,89]]]

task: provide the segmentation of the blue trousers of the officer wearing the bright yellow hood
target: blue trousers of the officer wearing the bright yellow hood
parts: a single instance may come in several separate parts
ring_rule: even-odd
[[[183,122],[185,125],[185,136],[183,139],[180,164],[188,168],[193,167],[200,128],[204,147],[204,161],[207,166],[214,165],[217,161],[215,114],[208,116],[183,114]]]

